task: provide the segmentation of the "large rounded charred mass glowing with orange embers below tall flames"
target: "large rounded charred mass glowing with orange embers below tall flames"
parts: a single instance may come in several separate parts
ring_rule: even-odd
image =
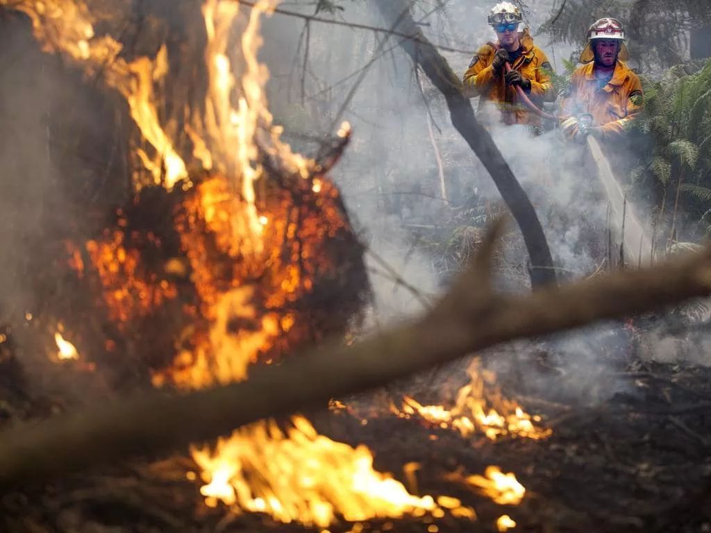
[[[101,235],[66,243],[77,279],[98,289],[92,303],[110,332],[92,339],[73,321],[87,353],[121,353],[132,339],[154,384],[200,387],[242,379],[257,358],[274,362],[346,330],[367,279],[328,178],[270,185],[256,257],[230,240],[230,210],[240,206],[225,179],[205,173],[194,182],[142,188]]]

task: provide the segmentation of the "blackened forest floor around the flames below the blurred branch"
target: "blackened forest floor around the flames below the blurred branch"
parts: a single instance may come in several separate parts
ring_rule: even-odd
[[[406,384],[342,399],[355,411],[374,414],[365,424],[351,409],[309,413],[319,433],[353,446],[367,445],[375,468],[406,485],[403,467],[418,463],[419,494],[458,497],[477,515],[474,522],[449,514],[376,519],[355,529],[343,522],[328,531],[489,532],[497,531],[501,515],[515,520],[513,531],[526,532],[711,531],[711,368],[642,360],[627,361],[624,368],[610,365],[618,368],[594,380],[615,392],[581,404],[570,387],[551,386],[564,371],[545,352],[531,351],[524,359],[517,364],[527,369],[525,384],[520,372],[506,372],[500,384],[504,394],[540,414],[542,425],[552,429],[542,440],[491,441],[481,434],[464,438],[380,409]],[[461,386],[464,373],[459,368],[461,363],[439,371],[437,397]],[[18,398],[8,387],[4,382],[0,393],[6,408]],[[525,395],[517,397],[514,390]],[[515,473],[526,488],[519,505],[498,505],[445,477],[457,471],[483,473],[488,465]],[[225,505],[209,508],[198,482],[186,478],[188,470],[196,465],[173,456],[80,473],[43,487],[18,487],[0,500],[0,531],[324,531],[274,522],[267,515],[237,514]]]

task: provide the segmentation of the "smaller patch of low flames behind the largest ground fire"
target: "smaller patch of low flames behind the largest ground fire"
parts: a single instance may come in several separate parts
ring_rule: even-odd
[[[469,369],[471,381],[456,395],[454,407],[425,406],[405,397],[400,409],[392,410],[398,416],[417,416],[437,424],[443,429],[456,429],[464,436],[481,431],[491,440],[501,436],[518,436],[540,439],[552,434],[550,429],[535,425],[540,416],[531,416],[519,404],[506,399],[496,387],[493,372],[480,372],[476,363]]]

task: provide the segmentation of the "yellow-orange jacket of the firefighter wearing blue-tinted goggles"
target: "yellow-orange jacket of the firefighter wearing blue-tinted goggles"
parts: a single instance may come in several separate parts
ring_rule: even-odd
[[[542,107],[543,102],[555,102],[557,94],[547,72],[553,70],[548,58],[543,50],[533,44],[528,29],[520,34],[520,41],[523,53],[513,62],[511,68],[530,80],[531,89],[528,96],[537,107]],[[481,97],[480,110],[487,102],[494,102],[501,111],[502,122],[506,124],[540,125],[540,117],[531,113],[526,104],[520,101],[515,87],[506,86],[504,72],[500,76],[494,75],[491,63],[495,53],[496,48],[489,43],[479,48],[474,55],[469,70],[464,74],[467,95],[470,98]]]

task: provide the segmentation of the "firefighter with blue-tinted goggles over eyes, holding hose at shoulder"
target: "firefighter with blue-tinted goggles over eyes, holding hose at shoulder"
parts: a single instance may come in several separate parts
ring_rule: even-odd
[[[557,95],[548,73],[552,70],[548,58],[533,44],[527,29],[518,31],[522,22],[520,9],[510,2],[491,9],[488,23],[498,43],[483,45],[474,55],[464,75],[464,86],[469,97],[480,97],[480,111],[487,102],[493,102],[505,124],[538,126],[540,118],[520,101],[515,87],[522,87],[538,107],[542,102],[555,102]]]

